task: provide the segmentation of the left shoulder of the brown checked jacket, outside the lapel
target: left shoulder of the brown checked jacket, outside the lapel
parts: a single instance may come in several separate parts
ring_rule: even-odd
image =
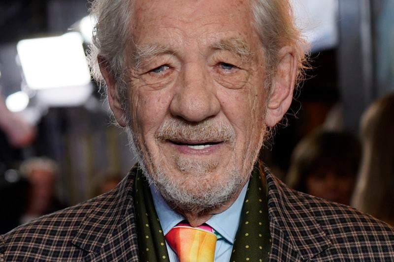
[[[105,209],[114,198],[107,193],[81,204],[42,216],[0,236],[0,261],[49,261],[82,258],[87,253],[72,243],[92,212]],[[55,260],[55,259],[53,259]]]

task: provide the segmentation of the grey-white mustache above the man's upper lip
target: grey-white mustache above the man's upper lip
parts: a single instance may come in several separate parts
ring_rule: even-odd
[[[211,118],[200,122],[184,119],[165,120],[156,131],[155,139],[164,142],[235,142],[235,130],[229,123]]]

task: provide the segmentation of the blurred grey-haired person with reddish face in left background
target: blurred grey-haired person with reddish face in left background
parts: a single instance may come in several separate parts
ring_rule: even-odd
[[[22,162],[20,172],[31,185],[29,203],[21,217],[21,224],[66,207],[55,193],[58,173],[55,161],[45,157],[30,158]]]

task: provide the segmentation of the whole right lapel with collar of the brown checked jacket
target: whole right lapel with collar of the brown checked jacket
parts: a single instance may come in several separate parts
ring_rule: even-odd
[[[331,246],[331,241],[313,214],[311,206],[274,177],[264,166],[268,185],[271,238],[270,259],[308,260]],[[293,260],[292,260],[293,259]]]

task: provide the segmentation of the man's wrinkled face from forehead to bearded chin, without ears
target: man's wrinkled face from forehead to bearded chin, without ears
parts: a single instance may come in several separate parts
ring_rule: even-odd
[[[263,50],[248,1],[140,0],[128,95],[150,182],[180,209],[224,204],[263,141]]]

